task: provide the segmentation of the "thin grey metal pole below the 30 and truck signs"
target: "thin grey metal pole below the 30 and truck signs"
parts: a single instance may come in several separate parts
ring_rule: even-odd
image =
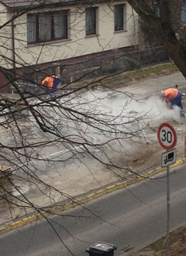
[[[170,188],[169,188],[169,165],[167,166],[167,235],[166,256],[169,256],[169,222],[170,222]]]

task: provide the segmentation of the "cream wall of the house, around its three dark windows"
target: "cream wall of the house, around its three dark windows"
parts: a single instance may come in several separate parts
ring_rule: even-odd
[[[117,2],[114,2],[117,3]],[[121,3],[121,2],[118,2]],[[126,3],[126,2],[124,2]],[[72,6],[71,37],[68,40],[51,41],[45,45],[27,45],[26,14],[15,21],[16,66],[33,65],[51,61],[69,59],[114,48],[138,45],[137,25],[131,7],[126,3],[126,31],[114,33],[114,4],[98,4],[97,37],[85,36],[85,7]],[[69,8],[68,8],[69,9]],[[59,8],[56,10],[60,10]],[[1,16],[1,14],[0,14]]]

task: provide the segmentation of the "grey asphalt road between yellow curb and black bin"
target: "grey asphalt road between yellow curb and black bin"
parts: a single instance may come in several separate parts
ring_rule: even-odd
[[[186,221],[185,168],[180,165],[170,175],[170,229]],[[165,173],[161,176],[103,196],[84,208],[65,211],[49,221],[74,255],[87,255],[85,250],[99,241],[118,246],[114,255],[125,255],[126,248],[132,251],[166,233]],[[40,221],[2,235],[1,255],[71,255],[60,239],[50,224]]]

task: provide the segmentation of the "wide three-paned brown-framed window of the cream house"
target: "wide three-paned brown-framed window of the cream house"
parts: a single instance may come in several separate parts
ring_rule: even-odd
[[[68,38],[68,10],[27,14],[28,44]]]

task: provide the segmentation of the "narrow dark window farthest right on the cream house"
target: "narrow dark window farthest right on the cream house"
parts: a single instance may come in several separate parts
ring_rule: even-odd
[[[114,31],[122,31],[126,29],[125,4],[114,6]]]

